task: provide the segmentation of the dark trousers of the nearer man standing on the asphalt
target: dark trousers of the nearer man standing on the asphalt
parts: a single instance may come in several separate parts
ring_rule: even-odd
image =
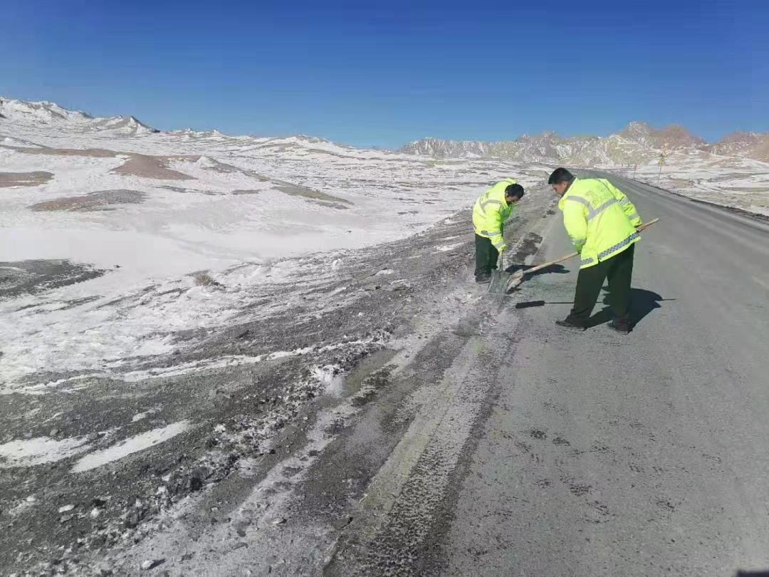
[[[630,311],[631,277],[633,276],[633,253],[630,245],[618,255],[601,261],[598,265],[581,268],[577,277],[577,291],[574,294],[574,308],[568,321],[574,325],[586,326],[593,312],[604,281],[609,282],[609,306],[618,321],[628,321]]]

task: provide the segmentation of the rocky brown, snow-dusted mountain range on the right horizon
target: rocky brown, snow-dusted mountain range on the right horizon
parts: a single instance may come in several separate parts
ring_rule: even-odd
[[[514,140],[483,142],[422,138],[409,142],[400,152],[436,158],[491,157],[519,162],[559,162],[578,166],[644,164],[667,152],[711,152],[769,162],[769,133],[733,132],[708,144],[686,128],[669,125],[653,128],[631,122],[608,136],[563,138],[554,132],[521,135]]]

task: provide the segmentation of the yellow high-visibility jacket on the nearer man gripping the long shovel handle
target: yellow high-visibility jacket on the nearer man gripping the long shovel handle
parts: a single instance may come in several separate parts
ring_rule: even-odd
[[[641,217],[633,203],[605,178],[574,178],[558,208],[581,253],[580,268],[597,265],[641,239],[635,229]]]

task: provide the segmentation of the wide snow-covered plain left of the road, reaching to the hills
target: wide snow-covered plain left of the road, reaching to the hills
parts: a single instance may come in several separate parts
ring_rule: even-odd
[[[115,132],[118,122],[63,110],[6,101],[2,172],[52,177],[0,188],[0,277],[43,261],[99,273],[14,299],[3,298],[0,278],[3,392],[22,384],[45,392],[50,380],[35,379],[45,372],[128,379],[121,375],[137,359],[174,352],[179,332],[235,315],[262,283],[297,266],[310,272],[312,258],[287,258],[404,238],[467,207],[498,178],[534,185],[546,176],[544,167],[437,161],[305,136]],[[196,285],[200,271],[217,284]]]

